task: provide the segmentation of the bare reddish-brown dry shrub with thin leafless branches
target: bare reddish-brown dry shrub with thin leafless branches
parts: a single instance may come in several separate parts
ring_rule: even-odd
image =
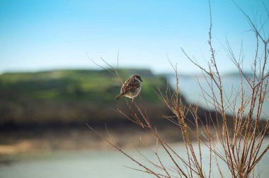
[[[244,13],[241,8],[239,10]],[[263,28],[269,18],[269,14],[267,14],[265,21],[259,27],[246,13],[244,13],[244,16],[251,26],[253,35],[256,37],[256,52],[253,57],[252,75],[247,76],[242,69],[243,55],[240,54],[239,59],[237,59],[229,42],[227,42],[227,54],[241,74],[241,88],[234,98],[228,97],[224,92],[222,76],[217,66],[215,49],[212,45],[211,9],[208,40],[210,61],[208,62],[208,66],[201,66],[182,49],[185,56],[195,66],[201,69],[207,85],[210,87],[210,91],[201,88],[207,105],[214,106],[214,112],[210,112],[207,118],[210,124],[205,124],[201,121],[200,114],[198,114],[198,107],[184,105],[182,102],[178,86],[178,71],[176,66],[171,64],[176,74],[176,90],[166,90],[166,93],[159,93],[159,97],[173,113],[171,116],[164,117],[173,122],[181,131],[186,156],[183,155],[183,152],[178,152],[175,148],[171,147],[159,136],[156,126],[152,124],[147,114],[147,109],[144,109],[144,102],[141,98],[139,104],[136,101],[129,102],[126,100],[126,105],[129,107],[132,117],[129,117],[129,114],[121,112],[120,109],[118,109],[118,112],[125,115],[127,119],[130,119],[142,129],[151,132],[156,139],[156,150],[153,151],[156,159],[150,160],[147,155],[137,150],[139,155],[142,155],[142,158],[147,160],[147,163],[137,160],[132,155],[126,153],[119,144],[104,138],[92,129],[91,126],[89,128],[140,167],[140,169],[132,169],[147,172],[154,177],[215,177],[217,175],[213,175],[213,169],[214,171],[217,169],[219,176],[224,177],[224,169],[220,166],[223,163],[228,167],[231,177],[259,176],[260,174],[259,172],[255,172],[255,168],[269,148],[269,145],[263,145],[269,127],[268,121],[263,126],[260,124],[263,102],[265,102],[265,95],[268,92],[269,80],[269,73],[266,68],[269,54],[269,38],[261,32],[264,30]],[[115,73],[117,73],[116,69]],[[246,95],[245,87],[251,90],[251,95]],[[240,100],[239,106],[234,105],[235,100]],[[234,114],[232,117],[227,117],[227,110],[233,111]],[[191,120],[186,117],[190,114],[193,117]],[[193,136],[195,136],[195,139],[193,139]],[[202,155],[202,149],[205,148],[210,153],[207,158],[209,160],[207,165],[203,162],[205,156]],[[164,157],[159,154],[160,149],[166,153],[165,159],[167,160],[168,158],[170,160],[168,164],[164,161]]]

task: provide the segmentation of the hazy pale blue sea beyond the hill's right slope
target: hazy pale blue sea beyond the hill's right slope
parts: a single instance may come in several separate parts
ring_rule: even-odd
[[[176,88],[176,78],[171,76],[168,78],[169,82],[171,83],[173,88]],[[207,78],[208,80],[209,78]],[[207,83],[206,78],[203,76],[179,76],[179,89],[181,94],[188,102],[200,105],[205,109],[214,109],[214,106],[210,104],[210,97],[212,97],[212,92],[210,86]],[[235,108],[238,109],[241,103],[241,78],[239,76],[225,76],[222,78],[222,85],[224,90],[224,105],[226,108],[227,114],[233,114],[234,109],[232,107],[228,108],[227,106],[231,104],[231,106],[235,105]],[[251,90],[247,86],[246,80],[243,80],[243,88],[244,88],[244,95],[249,97],[251,95]],[[207,94],[202,93],[202,90],[205,90]],[[220,101],[219,91],[217,90],[217,86],[213,85],[213,90],[215,92],[216,98]],[[263,109],[261,112],[261,119],[269,119],[269,86],[267,88],[267,94],[265,97],[265,101],[263,102]],[[205,93],[204,92],[204,93]],[[205,100],[206,98],[206,100]],[[209,102],[207,102],[207,100]],[[229,102],[227,102],[229,101]],[[247,107],[249,108],[249,107]],[[247,109],[246,109],[247,110]],[[255,117],[255,115],[253,116]]]

